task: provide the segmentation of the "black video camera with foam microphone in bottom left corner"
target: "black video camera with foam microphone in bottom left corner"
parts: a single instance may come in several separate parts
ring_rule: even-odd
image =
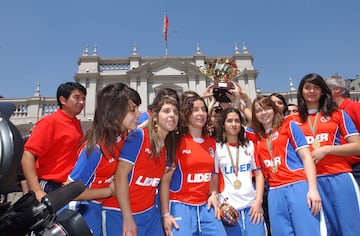
[[[81,214],[61,209],[85,190],[81,181],[70,183],[45,195],[41,202],[30,191],[13,205],[0,208],[0,235],[90,236]],[[56,215],[56,212],[60,213]]]

